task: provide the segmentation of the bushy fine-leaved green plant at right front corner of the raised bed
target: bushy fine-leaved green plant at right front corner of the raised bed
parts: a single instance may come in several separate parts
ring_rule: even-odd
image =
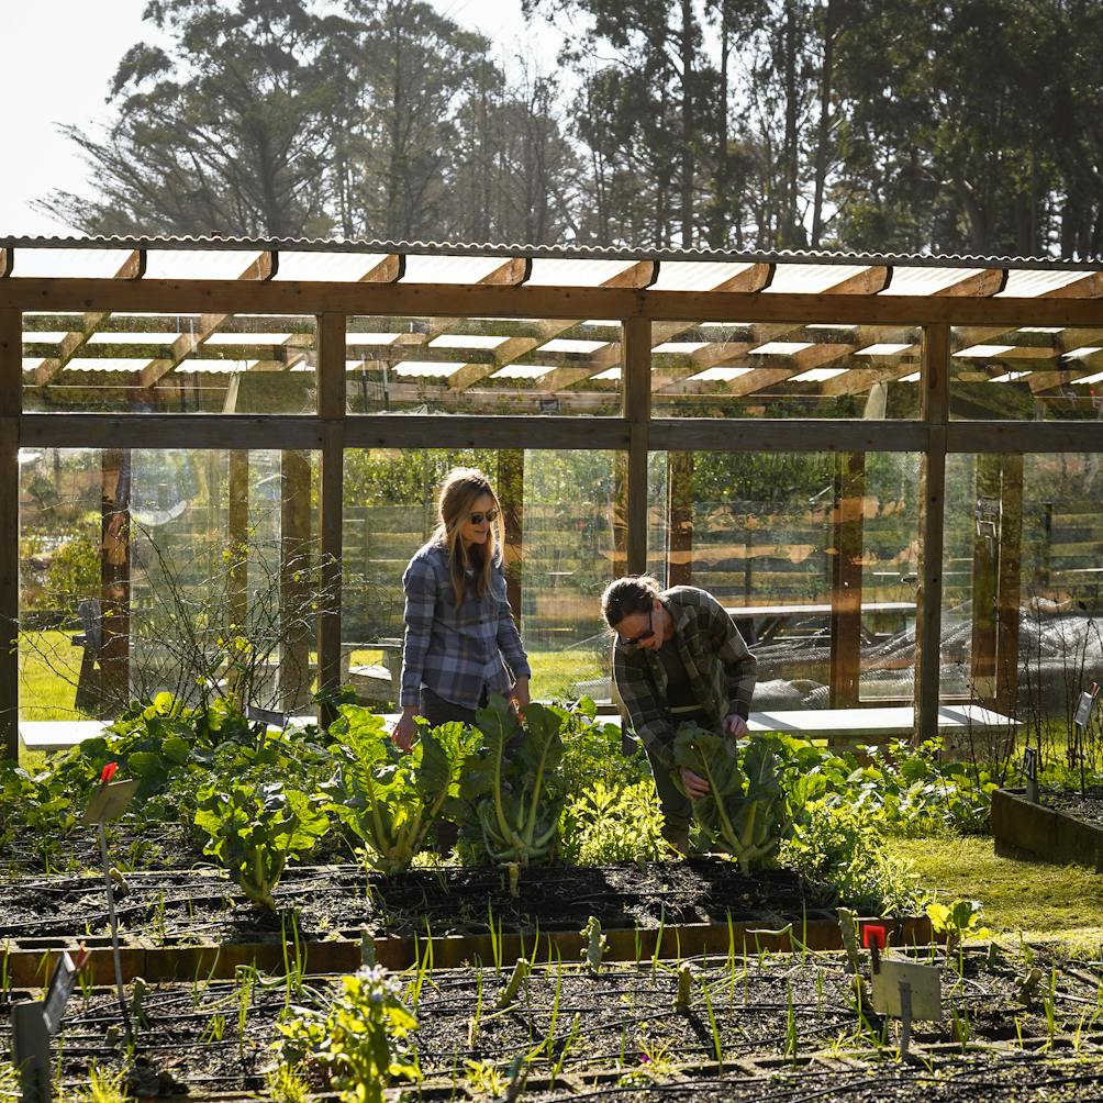
[[[914,911],[922,903],[910,867],[881,847],[876,812],[817,801],[781,848],[781,861],[828,903],[845,902],[879,915]]]

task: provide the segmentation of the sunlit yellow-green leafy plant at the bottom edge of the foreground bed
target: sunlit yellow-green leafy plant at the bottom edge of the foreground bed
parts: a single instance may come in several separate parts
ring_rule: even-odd
[[[379,965],[343,976],[328,1007],[293,1008],[277,1029],[283,1063],[320,1068],[346,1103],[383,1103],[393,1079],[421,1079],[407,1043],[417,1019],[403,1003],[397,981]]]

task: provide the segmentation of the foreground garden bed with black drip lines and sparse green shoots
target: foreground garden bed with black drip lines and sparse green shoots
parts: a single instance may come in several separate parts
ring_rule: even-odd
[[[840,954],[719,954],[636,963],[575,960],[536,966],[499,1008],[512,972],[414,970],[401,979],[418,1019],[411,1036],[424,1081],[410,1097],[565,1100],[1017,1100],[1103,1093],[1103,963],[1069,965],[1043,950],[971,949],[942,973],[942,1021],[917,1024],[914,1065],[897,1062],[898,1028],[859,1017]],[[678,1006],[679,971],[692,977]],[[1034,968],[1045,982],[1024,999]],[[1053,972],[1056,970],[1056,972]],[[868,964],[864,966],[868,973]],[[288,1006],[324,1006],[335,977],[233,983],[197,977],[151,987],[131,1015],[142,1086],[192,1099],[265,1092],[276,1022]],[[132,1005],[132,1000],[131,1000]],[[77,992],[55,1053],[63,1081],[118,1060],[121,1015],[108,990]],[[527,1054],[525,1062],[516,1062]],[[525,1071],[520,1072],[521,1069]],[[315,1080],[314,1090],[325,1085]],[[1062,1094],[1063,1093],[1063,1094]]]

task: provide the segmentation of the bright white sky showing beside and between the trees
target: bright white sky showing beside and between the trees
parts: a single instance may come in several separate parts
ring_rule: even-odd
[[[558,35],[527,26],[521,0],[430,0],[461,26],[492,39],[503,61],[537,52],[555,65]],[[84,191],[87,170],[60,125],[104,119],[108,84],[122,54],[152,36],[146,0],[0,0],[4,63],[0,65],[0,132],[15,156],[0,171],[0,237],[72,234],[31,202],[52,188]]]

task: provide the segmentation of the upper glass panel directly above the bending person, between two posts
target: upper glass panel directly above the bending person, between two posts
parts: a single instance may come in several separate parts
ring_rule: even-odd
[[[915,326],[655,322],[655,417],[914,418]]]

